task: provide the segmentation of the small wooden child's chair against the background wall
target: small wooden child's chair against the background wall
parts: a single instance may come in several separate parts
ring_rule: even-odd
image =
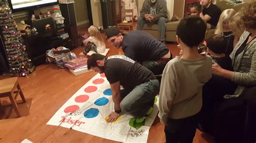
[[[131,22],[123,23],[122,21],[122,23],[117,24],[122,34],[129,33],[133,28],[133,9],[122,10],[122,20],[124,20],[126,17],[130,17]]]

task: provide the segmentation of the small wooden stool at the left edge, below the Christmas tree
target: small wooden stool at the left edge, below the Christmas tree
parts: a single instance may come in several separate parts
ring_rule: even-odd
[[[21,87],[19,86],[18,77],[11,77],[4,80],[0,80],[0,98],[8,96],[10,98],[12,106],[14,106],[14,110],[17,116],[21,117],[15,99],[15,97],[17,97],[18,94],[21,95],[22,101],[23,103],[25,103],[26,100],[22,93]]]

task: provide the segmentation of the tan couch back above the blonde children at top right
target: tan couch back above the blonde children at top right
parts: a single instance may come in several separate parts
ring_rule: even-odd
[[[238,12],[239,10],[241,10],[242,6],[247,4],[248,3],[235,4],[235,3],[230,3],[228,1],[220,1],[216,3],[216,5],[220,8],[221,11],[224,11],[226,9],[234,9],[235,12]]]

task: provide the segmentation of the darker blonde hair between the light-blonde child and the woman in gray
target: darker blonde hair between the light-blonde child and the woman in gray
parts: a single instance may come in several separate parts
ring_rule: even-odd
[[[230,26],[230,30],[234,35],[238,35],[240,37],[245,30],[240,12],[235,13],[235,15],[230,18],[228,26]]]

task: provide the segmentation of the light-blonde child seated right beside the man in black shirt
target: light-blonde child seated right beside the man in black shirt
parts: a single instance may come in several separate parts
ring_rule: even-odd
[[[226,9],[224,10],[219,18],[219,22],[217,24],[217,27],[215,29],[214,34],[221,34],[224,35],[227,40],[227,46],[223,47],[225,49],[225,54],[230,55],[231,52],[234,49],[233,41],[234,41],[234,35],[232,31],[230,30],[230,26],[228,26],[229,20],[235,15],[235,11],[233,9]]]

